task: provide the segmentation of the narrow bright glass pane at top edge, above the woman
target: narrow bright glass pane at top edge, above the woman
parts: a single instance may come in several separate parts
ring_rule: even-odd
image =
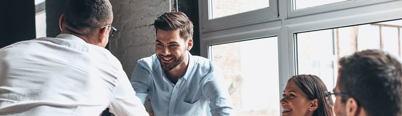
[[[303,8],[321,6],[325,4],[332,4],[343,1],[349,1],[349,0],[293,0],[293,10],[299,10]]]

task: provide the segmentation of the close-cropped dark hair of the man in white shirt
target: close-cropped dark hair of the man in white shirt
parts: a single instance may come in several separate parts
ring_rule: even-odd
[[[64,13],[64,23],[79,32],[66,29],[85,37],[91,37],[111,20],[113,11],[109,0],[68,0]]]

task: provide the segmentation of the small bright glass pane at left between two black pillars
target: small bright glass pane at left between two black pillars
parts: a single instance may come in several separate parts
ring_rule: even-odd
[[[46,11],[35,14],[36,38],[46,37]]]

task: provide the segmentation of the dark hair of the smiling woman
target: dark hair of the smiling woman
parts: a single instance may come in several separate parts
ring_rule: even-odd
[[[309,100],[318,100],[318,108],[314,111],[313,116],[333,116],[334,110],[325,95],[328,90],[319,77],[316,75],[296,75],[290,78],[287,83],[290,81],[295,82],[306,93]]]

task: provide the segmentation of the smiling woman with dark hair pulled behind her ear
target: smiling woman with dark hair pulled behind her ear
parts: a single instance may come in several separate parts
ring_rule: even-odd
[[[326,86],[315,75],[296,75],[287,81],[280,103],[282,116],[334,116]]]

